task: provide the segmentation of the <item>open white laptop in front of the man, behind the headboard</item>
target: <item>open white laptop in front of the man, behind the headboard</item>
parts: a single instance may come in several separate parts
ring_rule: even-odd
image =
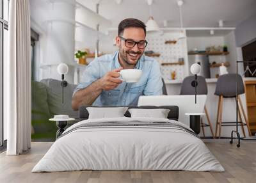
[[[178,106],[179,122],[189,125],[185,113],[204,113],[207,95],[150,95],[140,96],[138,106]]]

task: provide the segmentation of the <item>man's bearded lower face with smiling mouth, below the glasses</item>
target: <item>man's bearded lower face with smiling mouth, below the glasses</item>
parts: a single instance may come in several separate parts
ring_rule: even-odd
[[[125,62],[125,64],[136,65],[138,60],[140,60],[143,52],[141,51],[134,52],[131,50],[125,51],[124,49],[120,48],[119,54],[120,54],[120,58]]]

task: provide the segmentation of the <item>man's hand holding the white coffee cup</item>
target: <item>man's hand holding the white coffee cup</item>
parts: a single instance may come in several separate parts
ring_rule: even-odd
[[[115,70],[107,72],[102,78],[99,79],[100,86],[103,90],[113,90],[118,86],[118,84],[122,83],[120,77],[120,70],[123,68],[116,68]]]

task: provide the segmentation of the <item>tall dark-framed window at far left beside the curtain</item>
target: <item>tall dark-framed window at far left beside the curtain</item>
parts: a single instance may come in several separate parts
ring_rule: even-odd
[[[9,0],[0,0],[0,146],[6,137],[6,123],[3,120],[3,63],[7,59]]]

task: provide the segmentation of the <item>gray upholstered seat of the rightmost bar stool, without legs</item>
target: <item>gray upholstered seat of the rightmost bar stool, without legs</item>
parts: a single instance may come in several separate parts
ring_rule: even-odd
[[[243,79],[239,74],[223,74],[218,78],[214,95],[223,97],[236,97],[244,93]]]

